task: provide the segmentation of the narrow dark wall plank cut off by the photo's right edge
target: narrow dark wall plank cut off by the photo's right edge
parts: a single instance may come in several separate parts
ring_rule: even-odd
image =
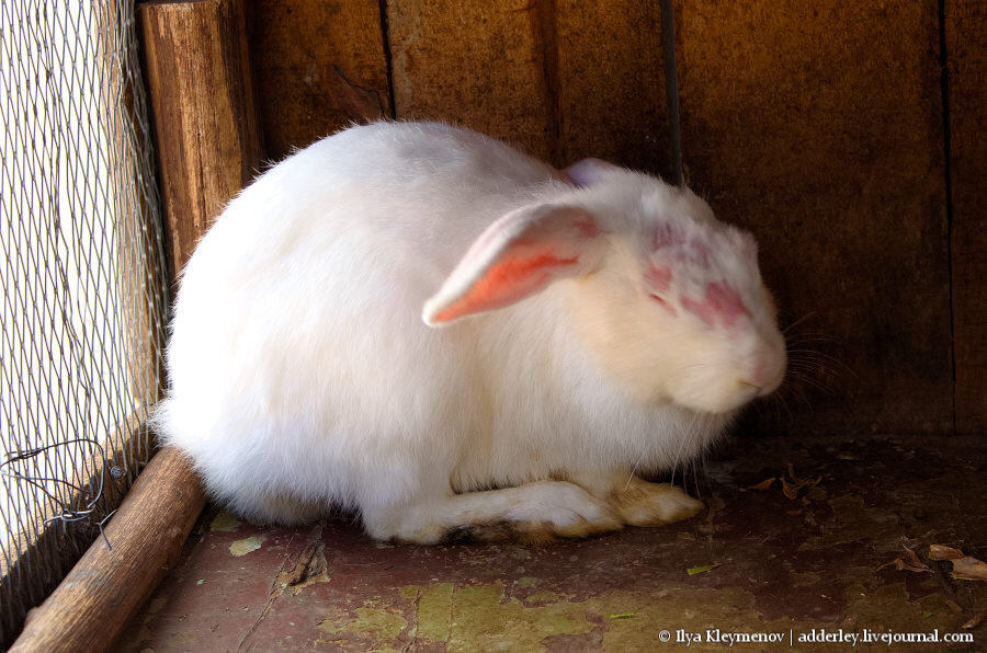
[[[956,429],[987,431],[987,3],[945,0]]]

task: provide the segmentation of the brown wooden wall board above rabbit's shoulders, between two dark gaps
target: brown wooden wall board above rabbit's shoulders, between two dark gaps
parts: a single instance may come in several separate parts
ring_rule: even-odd
[[[668,173],[657,2],[387,3],[399,118]]]

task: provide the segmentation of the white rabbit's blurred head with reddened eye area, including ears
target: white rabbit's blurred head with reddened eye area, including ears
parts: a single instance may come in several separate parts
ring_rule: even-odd
[[[427,303],[439,325],[567,278],[574,330],[647,404],[727,413],[773,392],[784,339],[753,238],[687,188],[589,160],[577,190],[491,225]],[[561,285],[560,285],[561,286]]]

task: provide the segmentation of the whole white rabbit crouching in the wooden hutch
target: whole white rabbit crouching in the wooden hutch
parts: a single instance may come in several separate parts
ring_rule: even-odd
[[[753,239],[690,191],[378,123],[203,238],[155,425],[248,518],[544,541],[697,512],[634,471],[701,452],[784,369]]]

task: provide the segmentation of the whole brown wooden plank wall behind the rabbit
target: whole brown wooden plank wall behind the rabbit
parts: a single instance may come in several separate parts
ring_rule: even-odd
[[[753,412],[760,432],[987,426],[983,12],[948,0],[941,31],[932,0],[676,1],[687,176],[760,240],[799,351],[803,378]],[[658,0],[254,0],[268,156],[350,121],[439,118],[557,165],[668,176],[659,21]],[[952,244],[943,36],[965,112]]]

